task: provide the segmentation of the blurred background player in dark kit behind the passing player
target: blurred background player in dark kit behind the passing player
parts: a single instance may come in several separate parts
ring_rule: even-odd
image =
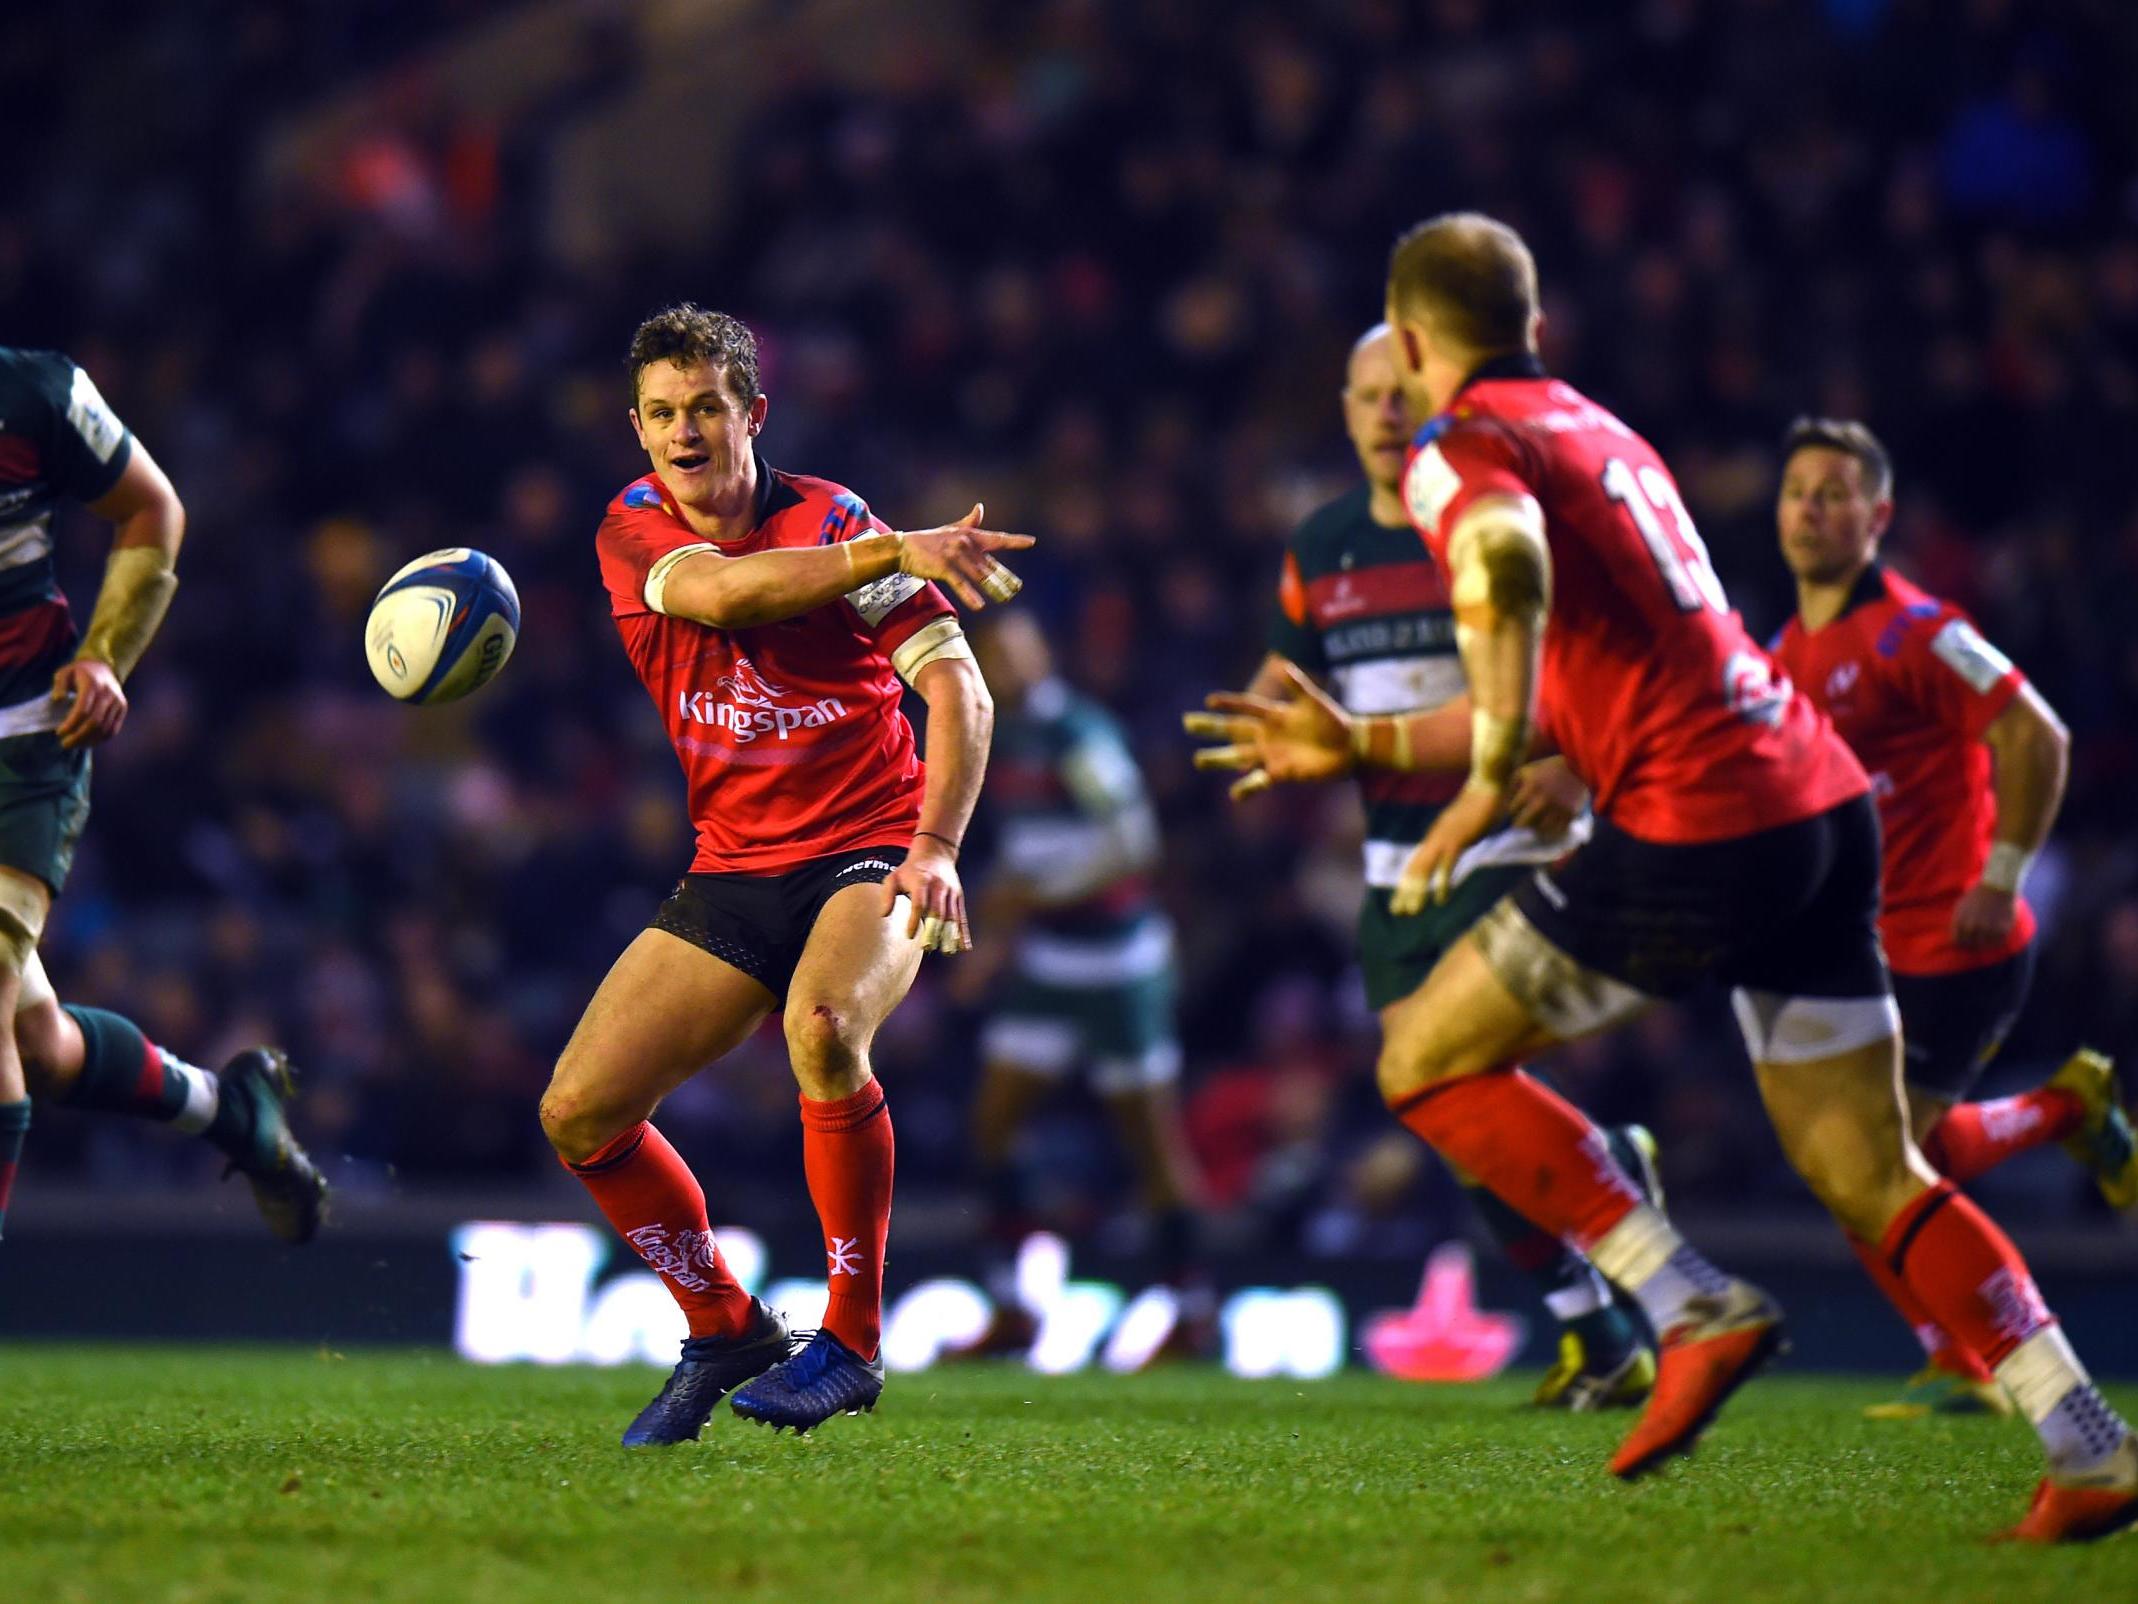
[[[1018,1354],[1039,1335],[1016,1281],[1031,1225],[1016,1142],[1075,1069],[1129,1155],[1152,1268],[1172,1292],[1172,1322],[1142,1358],[1217,1352],[1202,1183],[1180,1121],[1174,928],[1150,883],[1157,813],[1120,725],[1054,672],[1031,614],[988,614],[973,648],[996,708],[986,819],[994,868],[979,896],[988,952],[958,965],[951,997],[971,1005],[994,994],[973,1099],[994,1317],[964,1352]]]

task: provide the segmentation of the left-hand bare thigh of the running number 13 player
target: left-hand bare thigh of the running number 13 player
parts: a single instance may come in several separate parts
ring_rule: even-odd
[[[1582,969],[1505,898],[1415,992],[1381,1009],[1381,1095],[1400,1104],[1441,1080],[1623,1024],[1642,1007],[1640,992]]]

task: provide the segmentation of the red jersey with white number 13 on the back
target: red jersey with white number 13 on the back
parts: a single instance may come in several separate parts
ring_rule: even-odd
[[[1482,368],[1417,432],[1403,490],[1443,565],[1479,496],[1544,507],[1552,612],[1537,697],[1597,813],[1627,834],[1723,840],[1869,789],[1730,610],[1663,460],[1535,357]]]

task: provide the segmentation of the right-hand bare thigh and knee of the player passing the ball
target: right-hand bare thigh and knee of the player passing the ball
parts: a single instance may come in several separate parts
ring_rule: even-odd
[[[904,903],[883,913],[881,885],[847,885],[817,915],[787,984],[787,1057],[802,1095],[851,1097],[868,1080],[868,1044],[921,967]]]

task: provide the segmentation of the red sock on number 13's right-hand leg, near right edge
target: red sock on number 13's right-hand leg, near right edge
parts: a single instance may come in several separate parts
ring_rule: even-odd
[[[1950,1181],[1894,1215],[1879,1243],[1916,1302],[1984,1364],[2055,1324],[2027,1260]]]

